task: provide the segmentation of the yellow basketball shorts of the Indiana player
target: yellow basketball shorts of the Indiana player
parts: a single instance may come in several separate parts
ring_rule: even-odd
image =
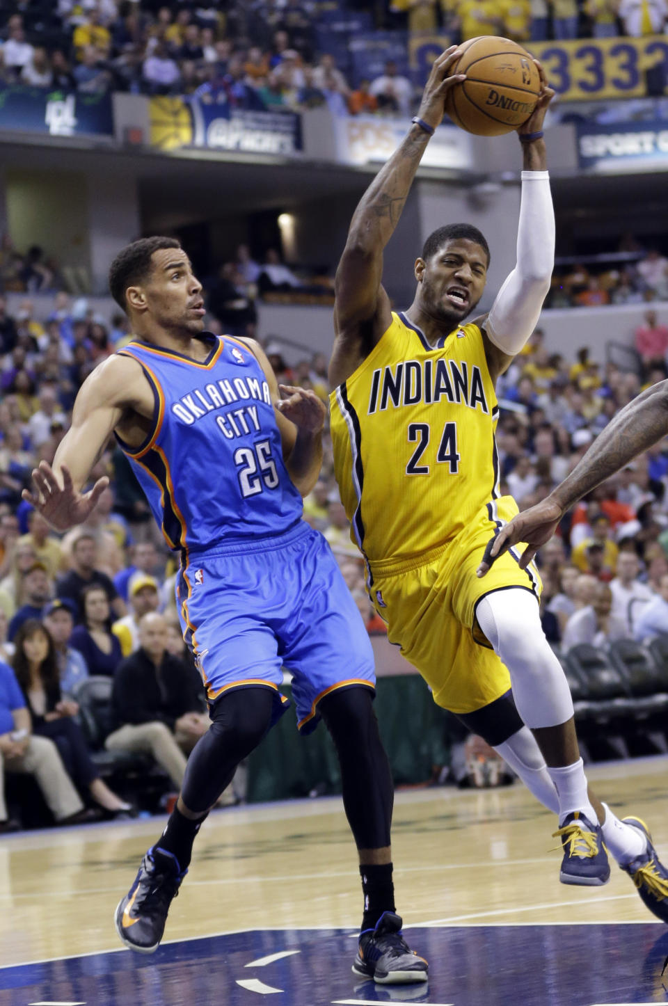
[[[533,562],[520,569],[523,545],[498,558],[482,579],[476,569],[489,539],[517,513],[503,496],[484,507],[452,541],[406,562],[371,563],[371,597],[387,638],[432,688],[438,705],[473,712],[510,688],[510,675],[476,623],[476,607],[495,591],[542,584]]]

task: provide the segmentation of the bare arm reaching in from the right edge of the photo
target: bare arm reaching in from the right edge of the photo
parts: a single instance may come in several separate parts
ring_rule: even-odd
[[[478,576],[484,576],[494,559],[518,541],[526,542],[519,561],[525,568],[573,503],[666,436],[668,380],[663,380],[643,391],[611,420],[570,475],[549,496],[506,524],[490,541]]]

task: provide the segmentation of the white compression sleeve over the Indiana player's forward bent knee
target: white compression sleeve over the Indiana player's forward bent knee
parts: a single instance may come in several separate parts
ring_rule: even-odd
[[[568,682],[540,625],[538,602],[522,588],[494,591],[476,609],[478,624],[510,672],[513,697],[531,729],[573,714]]]

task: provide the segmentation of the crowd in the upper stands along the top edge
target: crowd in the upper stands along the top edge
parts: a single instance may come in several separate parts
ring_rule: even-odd
[[[420,80],[390,58],[381,73],[338,66],[327,31],[317,30],[321,6],[331,13],[331,3],[318,0],[28,0],[20,12],[5,10],[0,86],[194,96],[251,111],[328,106],[336,115],[408,115]],[[390,0],[384,8],[354,7],[372,14],[377,27],[452,42],[485,34],[519,42],[640,36],[662,32],[668,19],[668,0]],[[341,57],[340,45],[334,48]],[[401,62],[407,66],[407,52]]]

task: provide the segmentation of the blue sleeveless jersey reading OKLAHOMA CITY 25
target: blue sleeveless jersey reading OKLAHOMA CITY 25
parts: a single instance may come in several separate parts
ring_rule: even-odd
[[[131,342],[153,388],[155,420],[138,448],[119,442],[171,548],[201,551],[282,534],[302,516],[283,462],[269,384],[257,357],[204,333],[202,363]]]

